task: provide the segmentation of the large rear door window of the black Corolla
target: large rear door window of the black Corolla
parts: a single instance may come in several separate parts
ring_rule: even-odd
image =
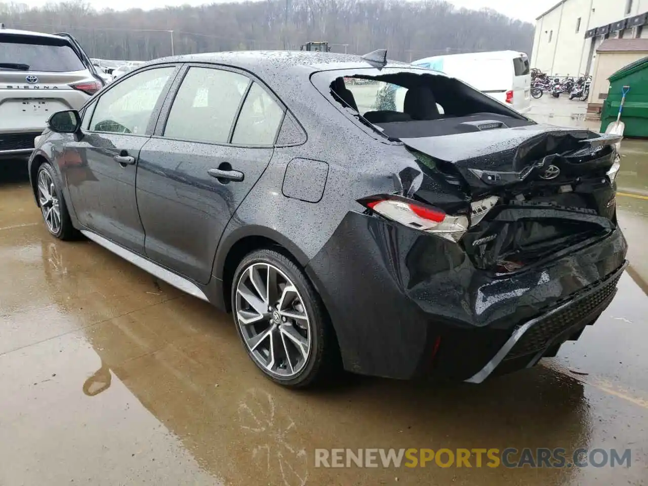
[[[231,71],[189,68],[171,106],[163,135],[180,140],[227,143],[248,84],[246,76]]]

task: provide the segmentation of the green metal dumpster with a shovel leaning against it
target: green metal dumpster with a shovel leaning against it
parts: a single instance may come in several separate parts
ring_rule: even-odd
[[[610,91],[601,113],[601,133],[616,121],[623,86],[630,86],[625,97],[621,121],[625,123],[624,137],[648,137],[648,57],[621,67],[610,80]]]

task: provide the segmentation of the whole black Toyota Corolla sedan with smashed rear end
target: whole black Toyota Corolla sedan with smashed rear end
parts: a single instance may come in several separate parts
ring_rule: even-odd
[[[148,63],[52,115],[29,167],[47,229],[231,310],[286,386],[339,360],[481,382],[554,356],[627,264],[620,138],[385,57]]]

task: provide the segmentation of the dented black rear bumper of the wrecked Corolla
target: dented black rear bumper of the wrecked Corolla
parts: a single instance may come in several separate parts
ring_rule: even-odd
[[[593,323],[614,295],[626,252],[616,229],[543,266],[493,275],[452,242],[350,212],[307,272],[346,369],[480,382],[496,369],[535,364]],[[586,297],[602,288],[602,298]],[[520,347],[532,338],[537,349]]]

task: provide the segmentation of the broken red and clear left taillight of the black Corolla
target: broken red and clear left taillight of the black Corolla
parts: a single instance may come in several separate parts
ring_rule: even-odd
[[[411,229],[457,242],[468,229],[467,216],[452,216],[441,209],[400,196],[371,196],[358,201],[388,220]]]

